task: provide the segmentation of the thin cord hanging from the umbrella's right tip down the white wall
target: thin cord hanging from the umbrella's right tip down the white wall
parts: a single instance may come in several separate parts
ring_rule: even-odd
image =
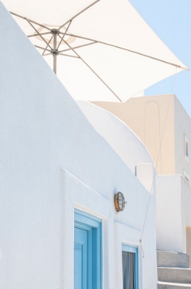
[[[146,224],[146,218],[147,218],[147,215],[148,215],[148,208],[149,208],[149,204],[150,204],[150,197],[151,197],[151,192],[153,190],[153,185],[154,185],[154,182],[155,182],[155,175],[157,173],[157,165],[158,165],[158,162],[159,162],[159,156],[160,156],[160,153],[161,153],[161,144],[162,144],[162,140],[164,138],[164,131],[165,131],[165,128],[166,128],[166,122],[167,122],[167,118],[168,118],[168,112],[169,112],[169,109],[170,109],[170,102],[171,102],[171,99],[172,99],[172,93],[173,93],[173,89],[174,89],[174,86],[175,86],[175,79],[176,79],[176,76],[177,76],[177,66],[176,66],[176,70],[175,70],[175,76],[173,78],[173,82],[172,82],[172,89],[171,89],[171,94],[170,94],[170,99],[169,99],[169,103],[168,103],[168,109],[167,109],[167,113],[166,113],[166,119],[165,119],[165,122],[164,122],[164,129],[163,129],[163,132],[162,132],[162,135],[161,135],[161,142],[160,142],[160,146],[159,146],[159,153],[157,155],[157,162],[155,164],[155,171],[154,171],[154,174],[153,174],[153,182],[152,182],[152,186],[151,186],[151,189],[150,189],[150,195],[149,195],[149,198],[148,198],[148,205],[147,205],[147,208],[146,208],[146,215],[145,215],[145,218],[144,218],[144,225],[143,225],[143,228],[142,228],[142,235],[141,235],[141,238],[139,239],[139,244],[142,248],[142,254],[143,254],[143,258],[144,258],[144,249],[142,247],[142,238],[143,238],[143,235],[144,235],[144,228],[145,228],[145,224]]]

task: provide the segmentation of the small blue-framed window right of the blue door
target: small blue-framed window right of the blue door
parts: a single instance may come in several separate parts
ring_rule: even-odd
[[[138,248],[122,244],[123,289],[138,289]]]

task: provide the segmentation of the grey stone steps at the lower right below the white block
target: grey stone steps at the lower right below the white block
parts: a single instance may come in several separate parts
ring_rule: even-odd
[[[158,289],[191,289],[189,261],[187,254],[157,251]]]

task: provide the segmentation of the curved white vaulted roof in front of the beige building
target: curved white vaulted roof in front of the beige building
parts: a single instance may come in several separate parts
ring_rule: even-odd
[[[91,103],[78,101],[78,105],[96,131],[111,145],[133,173],[137,164],[153,163],[142,141],[122,120]]]

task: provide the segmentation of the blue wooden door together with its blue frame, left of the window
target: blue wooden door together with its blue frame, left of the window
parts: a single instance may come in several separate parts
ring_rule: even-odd
[[[83,239],[85,232],[87,242]],[[82,260],[86,260],[80,264],[82,272],[79,272],[80,257],[78,257],[80,239],[84,240],[81,242],[84,246]],[[74,211],[74,250],[74,289],[102,289],[102,220],[78,209]],[[82,285],[77,285],[78,280]]]

